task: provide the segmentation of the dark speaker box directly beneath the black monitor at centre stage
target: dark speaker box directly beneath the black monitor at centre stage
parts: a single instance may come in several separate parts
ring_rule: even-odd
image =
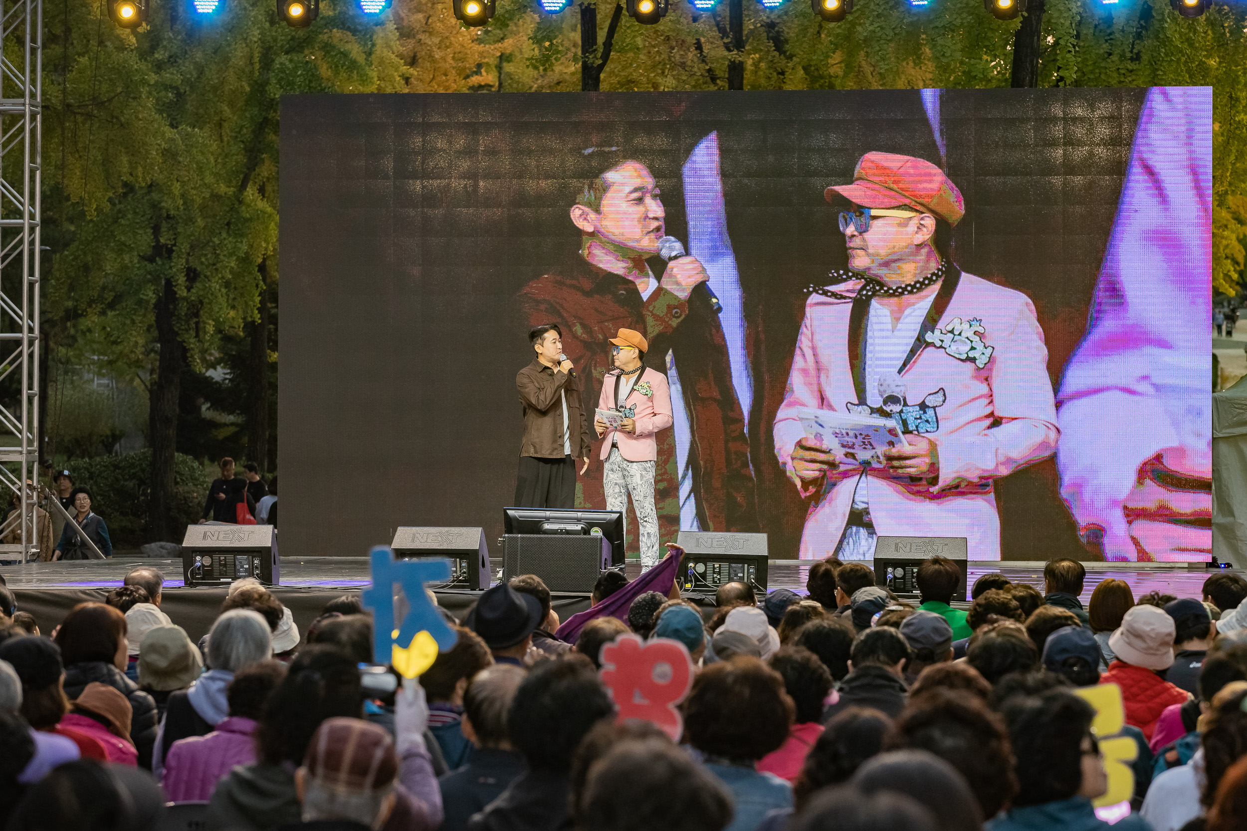
[[[589,593],[611,567],[611,543],[596,534],[560,537],[509,533],[503,537],[503,579],[536,574],[551,592]]]

